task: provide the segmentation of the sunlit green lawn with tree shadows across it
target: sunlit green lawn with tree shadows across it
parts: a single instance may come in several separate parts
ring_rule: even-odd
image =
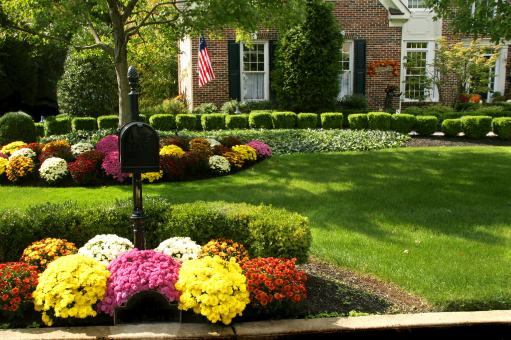
[[[397,284],[439,309],[508,309],[510,173],[509,147],[401,148],[274,156],[236,175],[144,185],[143,192],[176,203],[285,207],[309,217],[316,257]],[[132,196],[129,185],[0,191],[2,210]]]

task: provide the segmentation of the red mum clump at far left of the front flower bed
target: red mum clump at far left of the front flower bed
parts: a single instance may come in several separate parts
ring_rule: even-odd
[[[26,262],[0,264],[0,310],[13,312],[30,305],[38,276],[37,267]]]

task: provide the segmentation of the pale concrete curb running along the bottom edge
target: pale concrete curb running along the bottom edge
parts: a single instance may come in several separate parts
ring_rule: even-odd
[[[95,327],[6,329],[0,340],[274,339],[339,333],[456,326],[511,327],[511,310],[439,312],[218,324],[141,324]]]

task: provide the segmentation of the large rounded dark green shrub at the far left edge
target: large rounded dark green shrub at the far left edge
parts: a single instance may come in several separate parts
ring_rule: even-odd
[[[0,118],[0,145],[37,141],[34,120],[23,112],[8,112]]]

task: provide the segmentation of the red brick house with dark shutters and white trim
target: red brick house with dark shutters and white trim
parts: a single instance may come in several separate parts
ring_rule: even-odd
[[[406,77],[414,76],[407,74],[402,66],[405,56],[419,55],[426,63],[432,63],[435,39],[446,36],[452,42],[461,40],[470,44],[471,41],[470,38],[462,39],[464,37],[455,40],[447,22],[433,21],[433,14],[421,7],[423,0],[326,1],[334,4],[334,15],[344,31],[344,73],[340,75],[339,98],[362,93],[369,109],[383,109],[384,89],[388,84],[400,87],[400,92],[404,93],[403,106],[415,102],[406,94],[417,89],[406,89],[403,84]],[[234,30],[225,30],[224,36],[224,39],[206,39],[216,79],[201,88],[196,72],[199,39],[180,41],[179,91],[186,94],[192,108],[206,102],[221,107],[230,99],[272,98],[269,84],[277,31],[261,28],[251,41],[252,49],[236,43]],[[493,91],[504,93],[509,90],[510,48],[511,42],[506,42],[500,50],[496,77],[491,83]],[[391,67],[376,68],[375,72],[368,73],[371,62],[376,60],[398,61],[399,74],[394,74]],[[486,95],[490,101],[493,91]],[[430,93],[429,101],[438,101],[437,91]]]

